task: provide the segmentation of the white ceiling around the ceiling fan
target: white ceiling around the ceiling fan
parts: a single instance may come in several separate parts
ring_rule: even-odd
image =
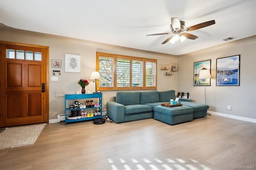
[[[196,40],[161,44],[170,35],[170,18]],[[181,55],[256,34],[256,0],[0,0],[0,22],[14,28],[94,42]],[[233,40],[230,40],[233,41]],[[228,41],[228,42],[230,42]]]

